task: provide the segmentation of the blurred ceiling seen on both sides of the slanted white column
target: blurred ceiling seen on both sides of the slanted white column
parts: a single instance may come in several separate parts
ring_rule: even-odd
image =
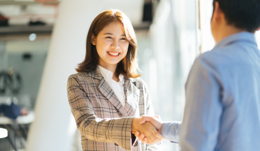
[[[53,25],[59,15],[63,0],[0,0],[0,13],[9,18],[9,25],[27,25],[30,20],[41,20]],[[133,25],[142,24],[143,6],[151,0],[99,0],[100,4],[89,4],[103,11],[118,8],[125,12]],[[96,2],[95,2],[96,3]],[[91,13],[91,12],[89,12]]]

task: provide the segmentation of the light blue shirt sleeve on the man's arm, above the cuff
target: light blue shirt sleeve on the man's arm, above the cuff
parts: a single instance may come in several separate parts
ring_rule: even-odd
[[[210,61],[203,57],[195,60],[185,85],[179,142],[182,151],[214,150],[222,113],[219,78],[217,67]]]

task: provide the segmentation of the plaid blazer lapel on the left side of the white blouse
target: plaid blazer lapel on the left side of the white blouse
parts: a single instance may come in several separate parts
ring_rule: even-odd
[[[122,103],[117,98],[116,94],[106,82],[105,78],[102,76],[99,68],[97,67],[95,71],[89,72],[89,75],[94,78],[100,79],[98,88],[100,92],[107,97],[107,99],[119,110],[125,117],[127,117],[126,110],[124,109]]]

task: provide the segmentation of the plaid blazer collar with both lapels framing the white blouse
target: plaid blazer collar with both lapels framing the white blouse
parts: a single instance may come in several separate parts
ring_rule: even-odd
[[[138,81],[137,78],[125,78],[125,96],[126,104],[125,108],[117,98],[115,92],[106,82],[105,78],[102,76],[98,67],[95,70],[88,73],[89,76],[97,78],[100,80],[98,88],[100,92],[107,97],[107,99],[118,109],[125,117],[134,116],[136,110],[138,109],[140,90],[133,84],[133,82]]]

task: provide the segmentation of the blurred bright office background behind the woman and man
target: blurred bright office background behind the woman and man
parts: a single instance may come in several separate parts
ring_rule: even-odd
[[[125,12],[155,113],[181,120],[194,59],[214,47],[212,0],[0,0],[0,150],[82,150],[67,79],[85,56],[92,20]],[[260,32],[256,32],[260,45]],[[11,110],[19,110],[11,112]],[[163,141],[163,150],[179,150]]]

